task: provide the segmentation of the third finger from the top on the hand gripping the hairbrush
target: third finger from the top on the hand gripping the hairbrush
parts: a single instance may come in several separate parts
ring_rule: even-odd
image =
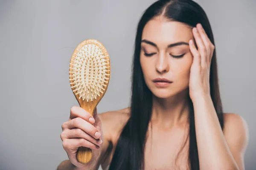
[[[67,129],[62,133],[61,136],[62,139],[73,139],[73,138],[83,138],[86,139],[87,141],[96,144],[96,145],[100,145],[102,144],[102,140],[101,139],[94,139],[92,136],[90,136],[89,134],[85,133],[83,130],[79,129],[79,128],[75,128],[75,129]]]

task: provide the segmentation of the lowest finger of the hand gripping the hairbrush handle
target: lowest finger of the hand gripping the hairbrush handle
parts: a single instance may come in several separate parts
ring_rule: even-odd
[[[64,148],[64,150],[68,151],[68,150],[73,150],[73,149],[76,149],[76,148],[79,148],[81,146],[83,147],[88,147],[88,148],[91,148],[91,149],[99,149],[99,146],[83,139],[83,138],[80,138],[80,139],[65,139],[63,142],[62,142],[62,146]]]

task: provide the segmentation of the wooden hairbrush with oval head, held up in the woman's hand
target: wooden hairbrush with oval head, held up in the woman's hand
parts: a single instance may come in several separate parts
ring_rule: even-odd
[[[92,116],[104,96],[110,80],[111,65],[108,51],[101,42],[93,39],[81,42],[70,59],[70,85],[79,105]],[[87,163],[92,150],[79,147],[77,160]]]

